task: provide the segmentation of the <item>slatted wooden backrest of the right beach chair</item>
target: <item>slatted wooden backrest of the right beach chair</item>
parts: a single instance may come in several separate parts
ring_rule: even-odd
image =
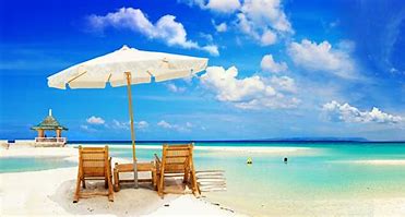
[[[165,173],[178,173],[189,170],[192,164],[192,144],[163,146],[162,167]]]

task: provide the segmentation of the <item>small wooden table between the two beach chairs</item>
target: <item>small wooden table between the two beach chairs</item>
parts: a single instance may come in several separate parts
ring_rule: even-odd
[[[151,178],[138,179],[138,182],[152,182],[154,189],[157,188],[157,176],[156,167],[154,161],[151,162],[138,162],[136,169],[139,172],[150,171],[152,173]],[[119,179],[120,172],[133,172],[133,164],[118,164],[116,162],[114,168],[114,191],[118,192],[121,189],[121,183],[123,182],[134,182],[133,179]]]

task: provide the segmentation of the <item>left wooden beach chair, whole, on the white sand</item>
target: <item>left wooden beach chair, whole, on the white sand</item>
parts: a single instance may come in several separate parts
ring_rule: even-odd
[[[82,192],[81,183],[83,184],[83,189],[85,189],[86,180],[104,180],[105,188],[108,189],[108,192]],[[76,203],[79,198],[85,198],[94,195],[105,195],[108,196],[109,201],[114,201],[111,183],[111,158],[108,156],[108,146],[79,146],[79,171],[73,203]]]

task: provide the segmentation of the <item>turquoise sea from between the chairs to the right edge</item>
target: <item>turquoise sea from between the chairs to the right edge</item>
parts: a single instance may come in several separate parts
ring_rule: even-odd
[[[196,145],[225,146],[222,143]],[[322,216],[323,210],[311,213],[312,209],[325,206],[340,212],[345,209],[337,205],[341,201],[405,196],[405,165],[357,162],[405,160],[405,143],[261,143],[254,146],[306,149],[291,153],[195,150],[194,161],[199,170],[226,171],[227,191],[205,194],[210,200],[255,215],[288,216],[299,213]],[[131,152],[124,148],[111,148],[111,153],[131,157]],[[153,153],[160,155],[160,150],[156,149],[138,149],[138,157],[151,160]],[[253,159],[250,166],[246,164],[248,157]],[[288,157],[287,164],[283,162],[284,157]],[[365,212],[369,209],[366,207]]]

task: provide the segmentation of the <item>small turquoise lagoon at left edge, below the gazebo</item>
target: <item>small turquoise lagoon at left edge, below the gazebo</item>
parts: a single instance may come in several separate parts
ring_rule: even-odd
[[[56,169],[64,167],[74,167],[75,162],[63,160],[61,158],[35,158],[35,157],[7,157],[0,158],[0,173],[37,171],[45,169]]]

